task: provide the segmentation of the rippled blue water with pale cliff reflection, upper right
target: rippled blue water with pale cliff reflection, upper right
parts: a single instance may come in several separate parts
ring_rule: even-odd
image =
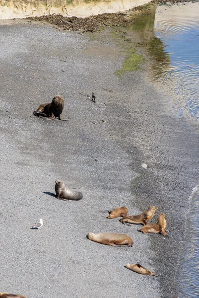
[[[165,46],[156,49],[154,78],[177,94],[179,116],[199,122],[199,2],[158,6],[154,35]]]

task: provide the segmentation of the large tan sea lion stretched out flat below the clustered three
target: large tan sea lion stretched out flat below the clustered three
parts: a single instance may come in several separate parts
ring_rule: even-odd
[[[87,238],[105,245],[111,246],[133,246],[133,240],[126,234],[117,233],[88,233]]]

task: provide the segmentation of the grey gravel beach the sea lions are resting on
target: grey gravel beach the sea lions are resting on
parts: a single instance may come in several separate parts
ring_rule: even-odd
[[[199,135],[172,114],[170,94],[144,70],[114,75],[124,56],[105,33],[97,39],[27,22],[0,25],[0,292],[178,297]],[[96,103],[84,96],[92,92]],[[33,116],[56,94],[70,121]],[[51,196],[56,179],[83,199]],[[152,205],[158,210],[151,222],[164,212],[169,237],[106,218],[120,206],[133,215]],[[31,230],[40,219],[41,230]],[[127,233],[134,245],[101,245],[88,232]],[[127,263],[157,277],[138,275]]]

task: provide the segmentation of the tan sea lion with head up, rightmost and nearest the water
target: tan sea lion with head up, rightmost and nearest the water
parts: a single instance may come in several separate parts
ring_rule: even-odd
[[[158,216],[157,224],[146,224],[138,231],[143,232],[143,233],[160,233],[163,236],[166,236],[167,235],[166,227],[167,227],[167,223],[165,220],[165,214],[161,213]]]

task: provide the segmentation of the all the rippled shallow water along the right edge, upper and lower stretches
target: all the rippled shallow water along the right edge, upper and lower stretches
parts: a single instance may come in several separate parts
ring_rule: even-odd
[[[158,6],[154,22],[155,50],[153,78],[175,93],[173,110],[195,128],[199,124],[199,2]],[[164,47],[162,47],[162,43]],[[157,51],[159,50],[159,51]],[[199,297],[199,187],[188,202],[185,232],[186,254],[181,271],[180,298]],[[190,233],[191,230],[191,233]]]

